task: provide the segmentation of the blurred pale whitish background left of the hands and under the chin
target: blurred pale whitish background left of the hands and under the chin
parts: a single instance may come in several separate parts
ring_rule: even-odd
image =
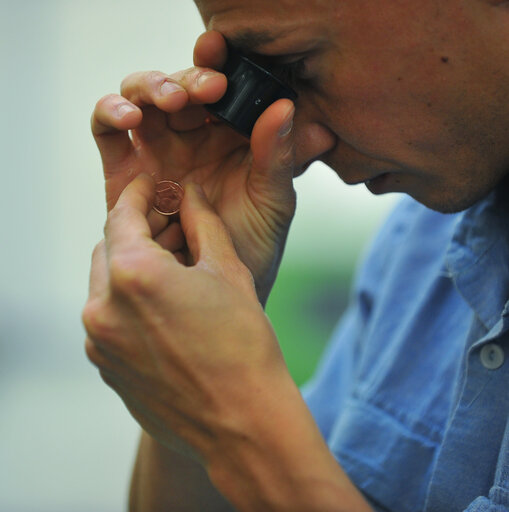
[[[95,102],[191,65],[192,0],[0,0],[0,511],[120,512],[138,429],[83,351],[105,217]],[[394,201],[323,165],[297,180],[287,261],[352,258]]]

